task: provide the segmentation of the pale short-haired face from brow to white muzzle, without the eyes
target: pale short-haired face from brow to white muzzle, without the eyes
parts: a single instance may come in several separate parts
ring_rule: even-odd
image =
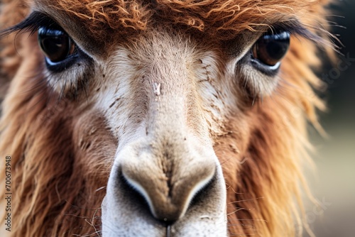
[[[173,233],[181,236],[226,236],[226,189],[213,145],[226,133],[228,111],[237,109],[235,69],[226,69],[233,65],[225,65],[212,45],[172,29],[136,37],[131,44],[113,44],[109,55],[84,57],[79,67],[58,72],[70,81],[89,80],[76,103],[99,113],[117,141],[107,160],[112,167],[102,232],[163,236],[174,223]],[[70,93],[63,84],[53,86]]]

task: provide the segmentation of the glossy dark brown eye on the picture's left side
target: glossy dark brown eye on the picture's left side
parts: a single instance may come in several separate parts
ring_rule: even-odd
[[[41,27],[38,29],[38,43],[50,62],[61,62],[75,53],[75,44],[62,30]]]

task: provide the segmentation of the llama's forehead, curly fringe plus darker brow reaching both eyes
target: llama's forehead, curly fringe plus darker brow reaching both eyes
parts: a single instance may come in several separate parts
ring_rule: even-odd
[[[243,48],[274,24],[295,20],[312,26],[317,23],[315,13],[322,12],[322,0],[33,1],[35,11],[48,14],[96,57],[107,57],[115,45],[168,28],[197,38],[200,45],[233,40]]]

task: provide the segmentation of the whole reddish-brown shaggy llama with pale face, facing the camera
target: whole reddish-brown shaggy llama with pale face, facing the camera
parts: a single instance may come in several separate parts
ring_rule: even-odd
[[[3,1],[1,236],[300,235],[327,4]]]

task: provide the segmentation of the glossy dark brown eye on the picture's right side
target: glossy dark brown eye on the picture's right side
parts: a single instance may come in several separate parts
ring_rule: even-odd
[[[290,33],[266,33],[253,45],[253,58],[265,65],[275,66],[285,56],[290,47]]]

